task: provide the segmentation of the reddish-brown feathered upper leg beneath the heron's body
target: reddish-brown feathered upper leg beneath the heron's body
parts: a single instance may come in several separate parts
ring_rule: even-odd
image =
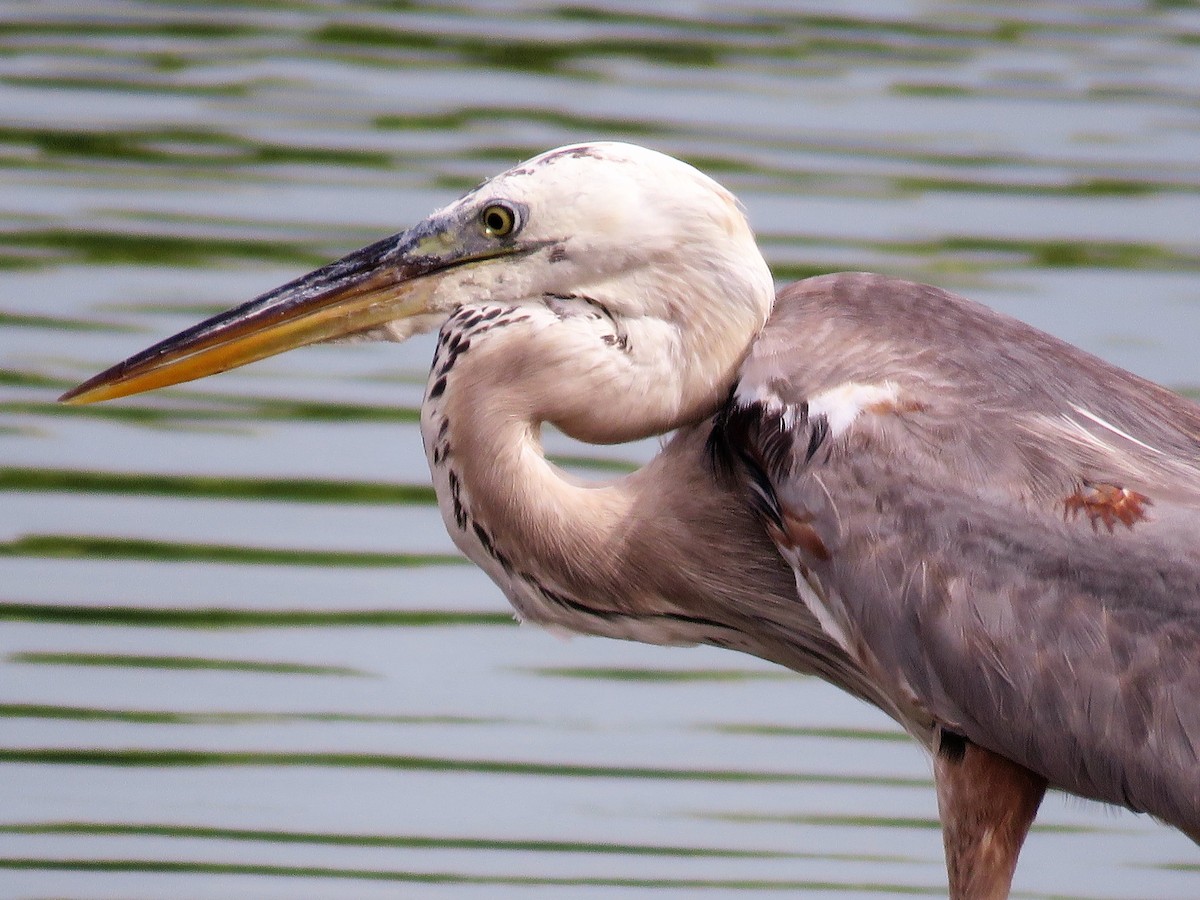
[[[1046,780],[944,730],[934,778],[952,900],[1003,900]]]

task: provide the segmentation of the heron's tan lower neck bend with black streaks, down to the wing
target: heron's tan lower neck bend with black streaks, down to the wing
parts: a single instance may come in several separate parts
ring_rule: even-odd
[[[422,433],[451,536],[521,618],[730,647],[870,696],[796,601],[794,575],[737,488],[714,478],[707,422],[637,472],[584,484],[546,460],[522,392],[496,385],[494,372],[476,384],[472,368],[457,366],[426,402]]]

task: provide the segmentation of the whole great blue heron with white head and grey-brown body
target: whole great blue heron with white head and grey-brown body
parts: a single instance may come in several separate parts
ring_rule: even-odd
[[[1048,785],[1200,838],[1200,408],[932,287],[776,296],[737,200],[668,156],[542,154],[64,400],[433,328],[438,502],[521,618],[875,703],[932,751],[955,898],[1007,895]],[[544,422],[674,436],[582,484]]]

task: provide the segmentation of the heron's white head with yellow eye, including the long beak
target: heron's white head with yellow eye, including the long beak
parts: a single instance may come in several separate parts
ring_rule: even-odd
[[[127,396],[349,336],[402,341],[464,305],[544,306],[547,298],[586,298],[649,328],[668,362],[703,370],[715,390],[732,379],[773,296],[725,188],[644,148],[578,144],[169,337],[62,400]]]

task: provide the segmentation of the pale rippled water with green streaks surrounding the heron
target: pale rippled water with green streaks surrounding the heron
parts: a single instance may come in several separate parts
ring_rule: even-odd
[[[433,506],[427,341],[53,400],[595,137],[720,178],[781,281],[931,281],[1195,390],[1196,4],[0,12],[0,894],[944,894],[929,763],[878,713],[512,625]],[[1198,868],[1051,797],[1016,886]]]

